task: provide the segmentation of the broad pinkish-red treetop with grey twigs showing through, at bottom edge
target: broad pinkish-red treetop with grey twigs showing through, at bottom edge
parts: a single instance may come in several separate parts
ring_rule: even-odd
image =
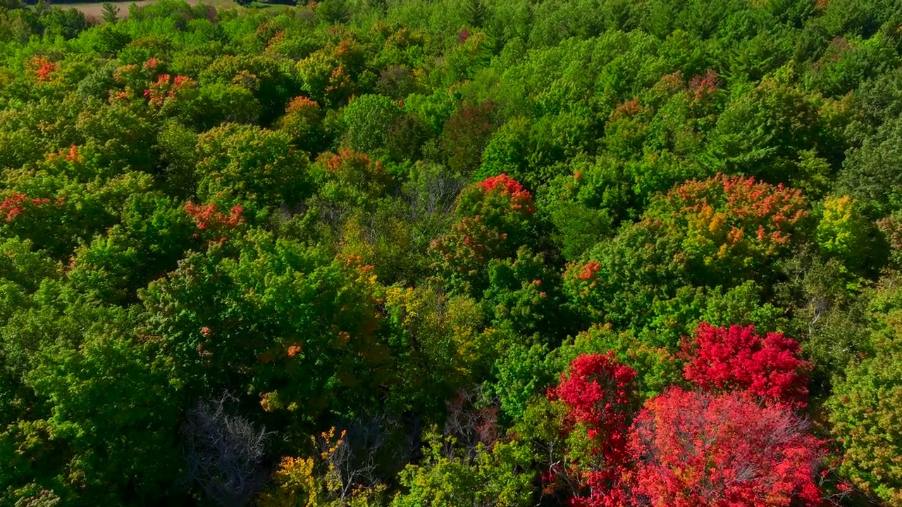
[[[804,419],[747,392],[672,389],[630,429],[631,503],[654,507],[818,505],[824,456]]]

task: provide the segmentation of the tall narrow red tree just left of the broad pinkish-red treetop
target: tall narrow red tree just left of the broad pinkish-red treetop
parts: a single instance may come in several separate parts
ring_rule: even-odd
[[[632,381],[636,371],[609,352],[607,355],[580,355],[561,374],[557,388],[548,390],[548,398],[566,405],[567,431],[577,425],[593,440],[588,456],[591,466],[574,470],[587,497],[575,498],[573,505],[615,507],[625,496],[620,481],[627,466],[627,429],[631,415]]]

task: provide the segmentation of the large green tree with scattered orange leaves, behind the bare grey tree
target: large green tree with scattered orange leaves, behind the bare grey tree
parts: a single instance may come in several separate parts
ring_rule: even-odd
[[[252,392],[304,425],[366,401],[380,378],[388,350],[370,271],[251,230],[189,254],[141,297],[148,332],[191,392]]]

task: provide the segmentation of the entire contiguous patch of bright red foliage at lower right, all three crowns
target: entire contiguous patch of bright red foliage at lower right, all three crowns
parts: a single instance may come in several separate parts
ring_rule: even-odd
[[[577,356],[548,390],[566,407],[569,464],[552,466],[549,489],[575,480],[578,507],[819,505],[823,446],[793,410],[810,364],[795,341],[753,331],[700,326],[686,378],[706,391],[670,388],[638,415],[635,370],[613,352]],[[777,396],[792,404],[759,403]]]

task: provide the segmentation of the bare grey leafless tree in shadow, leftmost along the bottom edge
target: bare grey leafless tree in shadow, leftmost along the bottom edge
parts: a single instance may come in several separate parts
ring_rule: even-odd
[[[224,507],[241,507],[266,481],[264,452],[272,432],[227,413],[237,399],[229,392],[200,401],[182,425],[189,480]]]

